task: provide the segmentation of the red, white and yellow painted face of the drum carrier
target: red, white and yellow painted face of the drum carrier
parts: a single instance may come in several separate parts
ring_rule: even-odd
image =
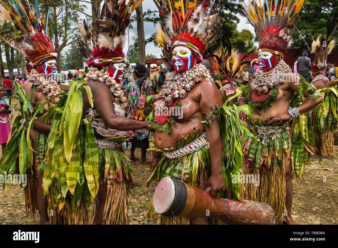
[[[175,47],[172,55],[172,64],[176,72],[189,70],[195,64],[195,56],[184,46]]]

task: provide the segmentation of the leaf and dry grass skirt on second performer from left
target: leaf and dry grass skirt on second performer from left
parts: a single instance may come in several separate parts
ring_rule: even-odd
[[[135,182],[129,159],[120,149],[99,149],[100,182],[107,182],[107,194],[103,209],[102,224],[129,224],[130,214],[128,194]],[[96,195],[92,206],[90,224],[95,224],[95,216],[101,201]]]

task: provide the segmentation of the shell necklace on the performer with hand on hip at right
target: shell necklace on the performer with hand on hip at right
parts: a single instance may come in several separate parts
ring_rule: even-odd
[[[290,66],[281,59],[270,73],[255,72],[250,84],[251,90],[255,90],[256,94],[260,95],[261,93],[265,94],[269,89],[278,88],[285,83],[288,71],[291,71]]]

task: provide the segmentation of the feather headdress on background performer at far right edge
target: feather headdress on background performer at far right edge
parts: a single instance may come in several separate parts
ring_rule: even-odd
[[[317,39],[313,40],[311,44],[311,53],[314,56],[311,66],[312,73],[320,73],[320,69],[327,65],[328,55],[336,46],[336,40],[331,39],[331,36],[338,26],[337,19],[338,13],[336,13],[336,16],[334,17],[327,34],[318,36]]]

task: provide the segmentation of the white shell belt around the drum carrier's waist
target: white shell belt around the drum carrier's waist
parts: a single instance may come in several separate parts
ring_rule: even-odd
[[[163,153],[164,156],[166,156],[169,159],[176,159],[183,157],[185,155],[194,153],[195,151],[198,151],[202,147],[206,146],[208,144],[207,142],[207,135],[206,132],[202,133],[198,138],[191,141],[189,144],[174,150],[174,151],[168,151]]]

